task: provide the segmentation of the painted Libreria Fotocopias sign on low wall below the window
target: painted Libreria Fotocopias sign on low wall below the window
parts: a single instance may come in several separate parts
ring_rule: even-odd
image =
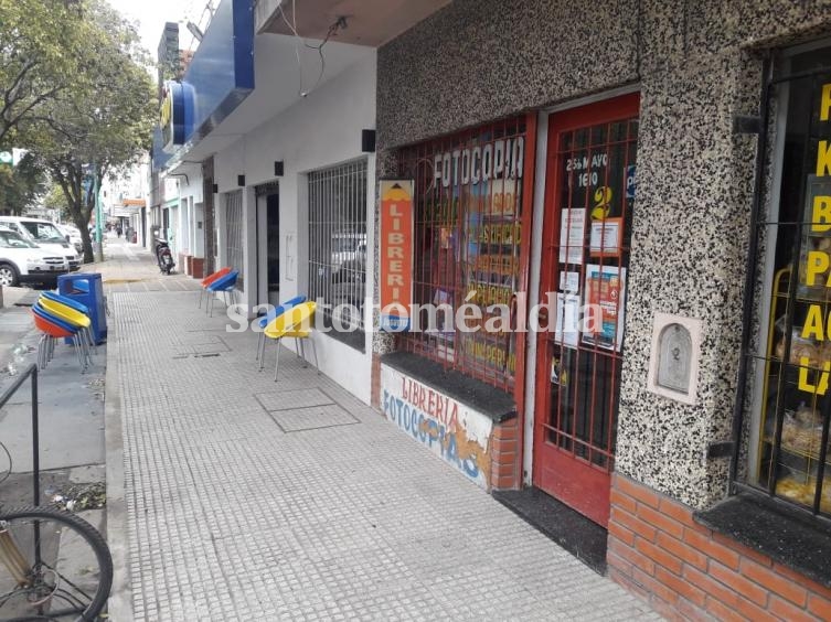
[[[402,374],[381,367],[384,416],[483,489],[490,481],[490,417]]]

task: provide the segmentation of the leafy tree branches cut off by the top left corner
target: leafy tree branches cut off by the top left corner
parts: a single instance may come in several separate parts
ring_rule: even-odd
[[[79,3],[0,0],[0,147],[28,124],[49,122],[46,108],[82,73],[86,24]]]

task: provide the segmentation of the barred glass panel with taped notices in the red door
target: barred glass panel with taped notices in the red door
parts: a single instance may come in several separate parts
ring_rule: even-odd
[[[548,292],[556,292],[562,326],[545,340],[551,361],[545,438],[608,472],[620,390],[637,137],[635,118],[557,133],[553,201],[558,222],[546,244],[554,279],[542,279]]]

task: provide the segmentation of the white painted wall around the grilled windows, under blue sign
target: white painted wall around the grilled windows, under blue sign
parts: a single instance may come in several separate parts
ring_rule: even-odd
[[[290,58],[257,57],[256,63],[290,62]],[[287,88],[290,86],[287,85]],[[367,157],[367,239],[374,239],[375,156],[361,152],[361,130],[375,127],[375,55],[372,54],[324,83],[305,99],[245,135],[234,144],[216,153],[214,176],[220,193],[236,190],[237,175],[245,175],[246,215],[253,229],[255,185],[274,181],[274,162],[283,160],[284,176],[279,178],[280,194],[280,298],[286,300],[306,291],[308,270],[308,199],[307,174],[361,157]],[[222,203],[220,202],[220,205]],[[223,235],[222,208],[216,225]],[[256,245],[253,234],[249,257],[254,260]],[[220,243],[219,248],[222,248]],[[287,254],[294,260],[287,260]],[[262,256],[260,256],[262,260]],[[222,265],[220,261],[217,265]],[[374,280],[372,261],[367,262],[366,283]],[[263,265],[259,278],[266,278]],[[256,283],[245,282],[245,300],[256,298]],[[371,392],[371,335],[365,353],[326,335],[315,337],[321,371],[365,403]],[[287,344],[288,345],[288,344]]]

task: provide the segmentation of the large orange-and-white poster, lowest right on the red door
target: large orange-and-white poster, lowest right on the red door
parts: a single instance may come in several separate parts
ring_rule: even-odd
[[[626,268],[586,266],[583,343],[620,352],[624,343]]]

